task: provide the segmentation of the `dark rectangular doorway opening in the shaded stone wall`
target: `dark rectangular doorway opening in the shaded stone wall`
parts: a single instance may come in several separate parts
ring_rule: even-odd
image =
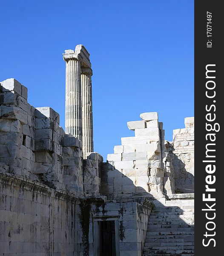
[[[99,256],[116,256],[115,221],[99,221],[99,233]]]

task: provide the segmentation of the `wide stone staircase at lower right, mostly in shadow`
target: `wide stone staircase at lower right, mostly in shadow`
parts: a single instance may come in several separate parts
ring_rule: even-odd
[[[193,256],[193,223],[193,200],[155,205],[149,217],[143,256]]]

